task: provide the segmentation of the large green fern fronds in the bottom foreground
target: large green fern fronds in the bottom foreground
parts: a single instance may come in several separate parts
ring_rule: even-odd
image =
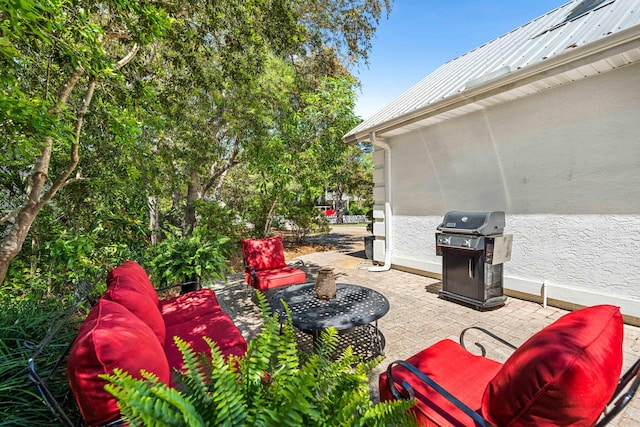
[[[337,360],[337,331],[322,334],[318,351],[298,352],[291,320],[280,325],[266,299],[258,296],[264,326],[242,358],[225,360],[216,344],[210,358],[195,354],[176,338],[185,369],[176,389],[153,375],[133,379],[116,370],[105,376],[133,426],[393,426],[415,425],[412,401],[374,405],[367,373],[380,362],[357,362],[349,348]]]

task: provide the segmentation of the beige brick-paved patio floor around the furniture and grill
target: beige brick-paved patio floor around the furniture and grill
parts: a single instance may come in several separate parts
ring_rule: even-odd
[[[364,256],[362,237],[368,235],[364,227],[334,227],[326,236],[309,240],[329,242],[338,249],[301,256],[309,280],[314,280],[319,267],[335,268],[336,281],[367,286],[384,294],[390,303],[389,312],[378,321],[386,339],[385,360],[370,374],[374,400],[378,398],[378,374],[397,359],[405,359],[443,338],[458,340],[459,333],[468,326],[489,329],[507,341],[520,345],[531,335],[566,313],[554,307],[508,298],[496,310],[478,311],[438,298],[439,280],[399,270],[369,272],[371,262]],[[243,274],[229,277],[229,282],[214,284],[220,304],[247,340],[260,327],[260,312],[252,302]],[[505,348],[488,347],[487,355],[498,361],[509,356]],[[625,325],[624,367],[627,369],[640,355],[640,328]],[[624,414],[611,425],[640,426],[640,399],[636,397]]]

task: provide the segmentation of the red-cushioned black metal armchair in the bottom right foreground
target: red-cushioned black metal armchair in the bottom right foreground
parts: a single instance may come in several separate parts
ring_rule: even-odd
[[[503,363],[469,352],[470,329],[515,350]],[[460,344],[445,339],[391,363],[380,399],[415,399],[421,426],[603,426],[633,398],[640,359],[620,378],[623,321],[618,307],[569,313],[516,348],[478,327]]]

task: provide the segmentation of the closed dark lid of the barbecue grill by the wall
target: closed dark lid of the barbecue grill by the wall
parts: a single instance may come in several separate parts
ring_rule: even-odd
[[[438,231],[481,236],[501,234],[504,231],[504,212],[447,212]]]

